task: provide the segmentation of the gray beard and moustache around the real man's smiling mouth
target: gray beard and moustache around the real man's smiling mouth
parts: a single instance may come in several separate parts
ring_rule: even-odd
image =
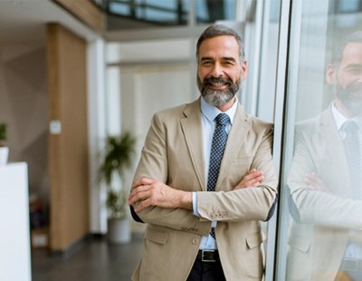
[[[205,79],[204,82],[200,81],[200,78],[197,76],[197,86],[201,95],[203,96],[205,102],[214,105],[214,106],[221,106],[224,105],[226,102],[230,102],[233,97],[235,96],[236,92],[239,91],[241,86],[241,80],[239,79],[235,83],[227,79],[229,83],[227,89],[218,91],[212,90],[207,87],[207,83],[209,81],[226,81],[223,78],[209,78]]]

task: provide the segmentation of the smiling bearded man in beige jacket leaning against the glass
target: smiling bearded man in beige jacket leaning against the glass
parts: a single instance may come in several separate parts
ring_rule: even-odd
[[[260,220],[277,197],[272,127],[235,97],[247,70],[240,36],[214,24],[196,48],[202,97],[155,114],[129,196],[148,223],[133,280],[261,280]]]

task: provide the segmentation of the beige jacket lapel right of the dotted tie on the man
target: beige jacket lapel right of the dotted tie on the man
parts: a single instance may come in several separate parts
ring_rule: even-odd
[[[250,117],[243,110],[243,106],[239,103],[233,119],[233,126],[227,138],[224,157],[219,170],[215,190],[218,190],[225,176],[228,174],[229,167],[233,165],[237,152],[242,148],[246,141],[246,135],[252,128]]]

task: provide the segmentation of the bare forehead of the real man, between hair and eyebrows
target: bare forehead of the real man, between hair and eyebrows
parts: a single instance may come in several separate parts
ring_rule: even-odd
[[[239,57],[239,44],[231,35],[208,38],[199,48],[199,56],[203,57]]]

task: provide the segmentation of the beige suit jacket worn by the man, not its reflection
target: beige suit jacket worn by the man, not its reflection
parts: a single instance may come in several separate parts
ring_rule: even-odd
[[[138,216],[148,226],[133,280],[186,280],[201,242],[215,228],[227,280],[261,280],[262,231],[277,195],[271,160],[271,124],[238,108],[224,151],[216,192],[206,191],[200,101],[154,115],[135,179],[159,179],[174,189],[197,192],[200,218],[176,208],[146,208]],[[262,170],[262,186],[232,191],[252,168]]]

